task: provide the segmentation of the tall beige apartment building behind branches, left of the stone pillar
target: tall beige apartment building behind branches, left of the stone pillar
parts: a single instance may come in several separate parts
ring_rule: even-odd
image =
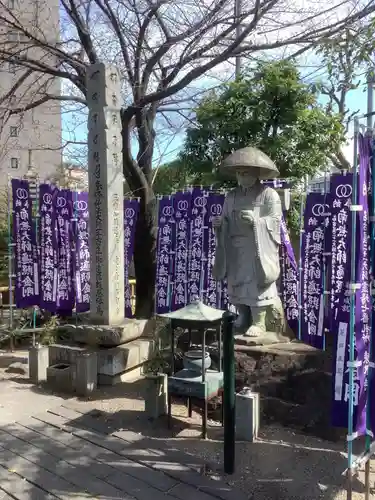
[[[22,26],[36,37],[54,41],[60,33],[59,0],[5,0],[0,5],[0,16],[14,15]],[[18,29],[2,21],[0,43],[7,44],[12,53],[27,53],[30,58],[55,66],[55,61],[37,44]],[[9,116],[12,109],[24,109],[48,93],[60,94],[60,82],[51,76],[33,72],[25,81],[25,68],[17,64],[0,62],[0,185],[9,176],[23,177],[30,172],[40,181],[53,176],[62,164],[61,106],[51,100],[38,107]],[[20,80],[21,79],[21,80]],[[22,84],[7,96],[18,82]]]

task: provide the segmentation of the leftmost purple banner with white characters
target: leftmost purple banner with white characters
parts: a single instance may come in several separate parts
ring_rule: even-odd
[[[39,304],[39,270],[29,183],[12,179],[15,302],[18,308]]]

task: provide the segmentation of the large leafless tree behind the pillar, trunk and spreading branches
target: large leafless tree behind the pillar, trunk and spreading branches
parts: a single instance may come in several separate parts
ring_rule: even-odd
[[[44,2],[41,10],[47,11],[49,2]],[[224,71],[230,58],[286,47],[297,53],[307,50],[371,14],[375,0],[300,5],[288,0],[243,0],[236,16],[228,0],[60,0],[60,4],[60,36],[51,37],[38,27],[29,29],[0,0],[0,24],[19,34],[15,44],[9,39],[1,43],[0,38],[0,63],[23,68],[3,102],[31,81],[34,98],[11,114],[56,99],[84,105],[87,65],[104,61],[119,66],[125,102],[124,175],[141,198],[135,244],[137,316],[149,317],[156,237],[152,166],[159,117],[168,126],[170,113],[183,113],[184,103],[205,87],[207,75]],[[49,85],[56,78],[62,82],[61,93]]]

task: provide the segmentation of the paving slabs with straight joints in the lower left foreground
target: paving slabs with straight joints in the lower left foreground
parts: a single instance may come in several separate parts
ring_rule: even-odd
[[[0,500],[246,500],[202,465],[69,405],[0,426]]]

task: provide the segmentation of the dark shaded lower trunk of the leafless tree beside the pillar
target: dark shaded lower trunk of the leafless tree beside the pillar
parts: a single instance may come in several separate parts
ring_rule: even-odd
[[[135,233],[134,267],[137,318],[149,319],[154,312],[156,276],[156,199],[150,188],[141,194]]]

